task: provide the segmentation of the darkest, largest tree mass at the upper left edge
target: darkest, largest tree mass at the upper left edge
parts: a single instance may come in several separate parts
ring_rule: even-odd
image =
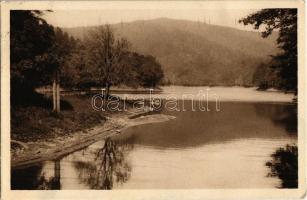
[[[29,100],[38,86],[50,83],[56,68],[50,54],[55,41],[53,27],[42,12],[14,10],[10,13],[11,100]],[[30,95],[29,95],[30,94]]]

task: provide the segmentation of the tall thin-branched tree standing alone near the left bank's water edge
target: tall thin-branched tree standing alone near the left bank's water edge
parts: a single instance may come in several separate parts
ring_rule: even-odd
[[[118,84],[124,71],[119,65],[128,52],[128,41],[116,39],[110,25],[100,26],[90,34],[89,45],[90,64],[97,69],[98,82],[106,87],[106,97],[110,87]]]

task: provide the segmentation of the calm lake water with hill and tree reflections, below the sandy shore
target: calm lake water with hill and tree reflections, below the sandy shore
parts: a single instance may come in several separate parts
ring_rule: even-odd
[[[176,119],[130,127],[65,156],[12,170],[12,189],[276,188],[271,154],[297,143],[289,103],[221,102],[216,111],[168,111]]]

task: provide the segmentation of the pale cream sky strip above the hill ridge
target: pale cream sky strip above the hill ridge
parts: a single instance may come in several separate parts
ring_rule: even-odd
[[[80,27],[102,24],[150,20],[156,18],[184,19],[252,30],[251,26],[239,24],[238,20],[257,10],[55,10],[47,12],[43,18],[57,27]]]

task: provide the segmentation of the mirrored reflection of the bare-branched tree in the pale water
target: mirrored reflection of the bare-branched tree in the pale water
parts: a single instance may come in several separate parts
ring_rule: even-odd
[[[121,143],[107,138],[103,148],[95,153],[94,161],[74,163],[78,170],[78,178],[91,189],[113,188],[113,183],[125,183],[131,173],[131,167],[125,160],[127,151],[132,150],[133,143],[121,141]]]

